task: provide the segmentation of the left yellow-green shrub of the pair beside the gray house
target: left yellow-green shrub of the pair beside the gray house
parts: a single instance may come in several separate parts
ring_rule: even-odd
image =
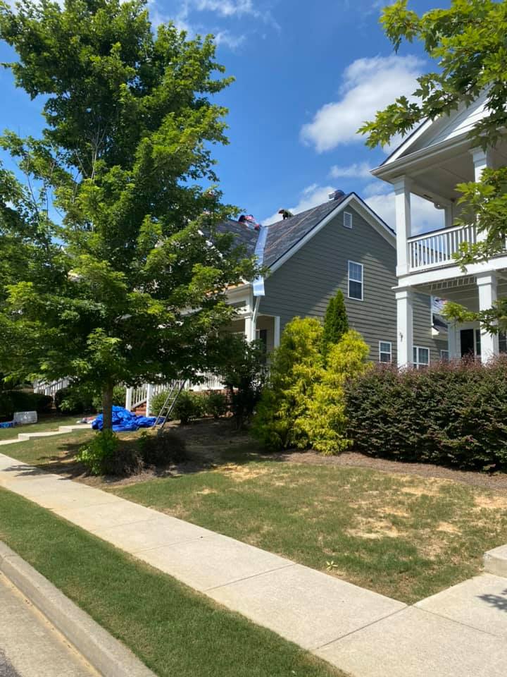
[[[296,425],[323,376],[323,328],[317,319],[294,317],[273,353],[270,379],[253,419],[252,433],[272,451],[309,445],[304,427]]]

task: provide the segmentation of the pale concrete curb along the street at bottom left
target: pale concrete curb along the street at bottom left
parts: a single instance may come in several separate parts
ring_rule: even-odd
[[[156,677],[121,642],[0,541],[0,572],[103,677]]]

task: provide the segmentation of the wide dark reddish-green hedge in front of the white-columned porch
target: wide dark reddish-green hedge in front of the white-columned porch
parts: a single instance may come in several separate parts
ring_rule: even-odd
[[[507,468],[507,358],[377,366],[346,385],[349,437],[370,456]]]

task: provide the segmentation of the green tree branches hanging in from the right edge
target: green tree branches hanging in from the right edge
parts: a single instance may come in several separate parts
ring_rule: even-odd
[[[499,142],[507,126],[506,45],[507,2],[495,0],[452,0],[449,8],[422,15],[397,0],[384,8],[381,23],[396,51],[403,41],[419,41],[436,63],[434,71],[418,78],[413,92],[417,100],[399,97],[375,120],[359,130],[368,135],[367,145],[387,144],[394,135],[405,135],[426,118],[451,114],[460,104],[486,97],[486,115],[470,131],[475,145],[487,148]],[[463,267],[486,260],[504,248],[507,237],[507,168],[487,169],[479,183],[457,185],[464,215],[458,224],[477,223],[484,241],[464,243],[458,260]],[[456,304],[446,314],[454,319],[470,318]],[[492,331],[507,326],[507,300],[492,309],[474,314]]]

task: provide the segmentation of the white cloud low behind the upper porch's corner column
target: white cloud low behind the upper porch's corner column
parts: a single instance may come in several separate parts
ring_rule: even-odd
[[[373,184],[369,185],[373,190]],[[368,186],[367,186],[368,189]],[[364,201],[373,211],[383,219],[388,226],[396,230],[396,215],[394,208],[394,193],[387,192],[389,188],[380,185],[376,193],[366,197],[367,190],[363,191]],[[427,233],[444,227],[444,212],[435,209],[433,202],[418,195],[411,195],[412,235]]]

